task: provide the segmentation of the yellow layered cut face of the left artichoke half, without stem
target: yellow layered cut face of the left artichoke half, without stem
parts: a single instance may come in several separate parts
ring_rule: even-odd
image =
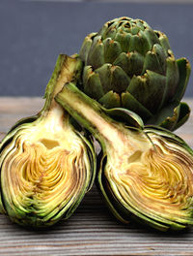
[[[58,212],[62,215],[89,178],[84,145],[63,123],[62,115],[55,109],[41,121],[19,130],[4,149],[3,195],[6,205],[21,215],[34,214],[43,221]]]

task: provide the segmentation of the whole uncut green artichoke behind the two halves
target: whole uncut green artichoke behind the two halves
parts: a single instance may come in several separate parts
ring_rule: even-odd
[[[87,95],[105,108],[138,113],[146,124],[179,128],[190,109],[180,103],[189,76],[187,59],[175,59],[166,35],[141,19],[115,18],[89,34],[80,49]]]

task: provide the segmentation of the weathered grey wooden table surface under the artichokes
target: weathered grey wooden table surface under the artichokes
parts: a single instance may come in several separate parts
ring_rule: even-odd
[[[193,100],[185,99],[193,110]],[[0,98],[0,139],[23,116],[41,110],[40,98]],[[193,147],[193,114],[177,134]],[[0,255],[193,255],[193,228],[162,234],[117,222],[96,186],[69,218],[47,231],[29,231],[0,215]]]

